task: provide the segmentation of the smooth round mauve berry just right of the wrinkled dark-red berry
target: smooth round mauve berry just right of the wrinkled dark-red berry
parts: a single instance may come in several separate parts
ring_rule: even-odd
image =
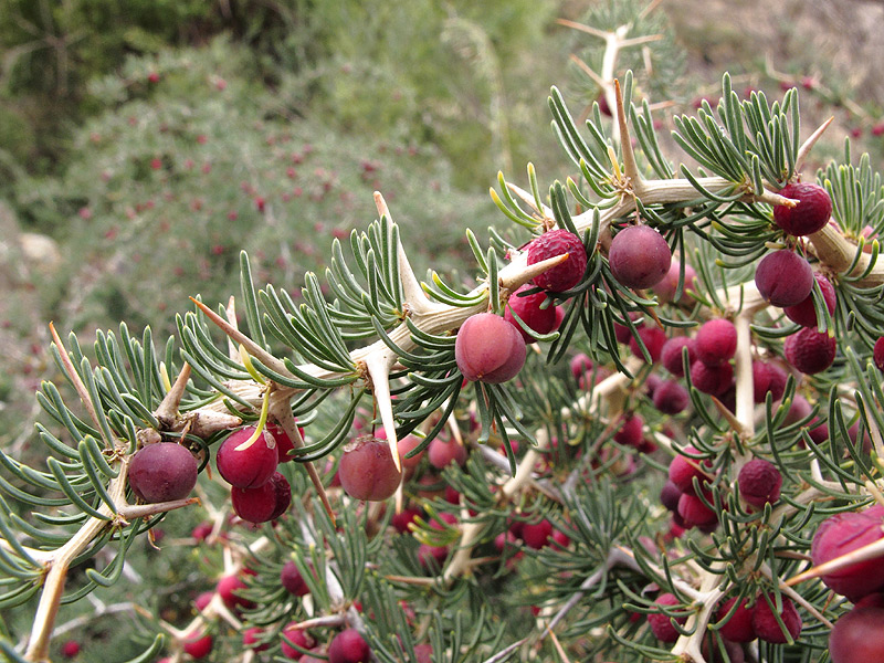
[[[656,285],[670,271],[672,251],[666,240],[649,225],[630,225],[611,240],[608,264],[611,274],[627,287]]]

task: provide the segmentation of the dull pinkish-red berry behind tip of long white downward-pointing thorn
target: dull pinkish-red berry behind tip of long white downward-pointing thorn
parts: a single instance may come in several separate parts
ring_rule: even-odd
[[[511,325],[507,327],[512,328]],[[390,497],[402,480],[390,445],[373,435],[360,435],[344,446],[338,476],[344,492],[350,497],[370,502]]]

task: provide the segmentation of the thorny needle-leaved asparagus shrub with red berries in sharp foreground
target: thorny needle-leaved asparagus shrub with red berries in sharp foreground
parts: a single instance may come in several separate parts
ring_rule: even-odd
[[[655,41],[641,25],[583,27],[612,123],[552,88],[571,175],[498,176],[508,225],[487,245],[466,230],[474,278],[415,274],[376,193],[301,304],[243,253],[242,292],[194,294],[165,343],[53,328],[67,386],[36,394],[45,466],[0,452],[0,607],[33,608],[4,655],[49,661],[61,604],[204,509],[193,541],[223,550],[224,587],[188,623],[139,607],[138,661],[824,661],[867,600],[832,651],[859,660],[882,588],[832,579],[884,554],[865,508],[884,504],[881,177],[849,144],[809,172],[825,125],[801,130],[798,91],[740,98],[728,75],[674,118],[676,167],[632,73],[613,77]],[[811,187],[832,207],[809,227]],[[811,555],[854,512],[861,543]]]

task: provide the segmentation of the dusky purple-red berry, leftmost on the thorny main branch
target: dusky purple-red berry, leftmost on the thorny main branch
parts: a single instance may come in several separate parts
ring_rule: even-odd
[[[175,442],[157,442],[138,450],[129,462],[129,487],[148,504],[183,499],[197,485],[199,464]]]

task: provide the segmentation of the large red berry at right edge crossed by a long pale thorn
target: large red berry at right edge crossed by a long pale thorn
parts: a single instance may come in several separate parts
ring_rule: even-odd
[[[810,557],[819,566],[852,550],[884,538],[881,519],[865,512],[840,513],[823,520],[813,535]],[[822,581],[832,591],[856,601],[884,588],[884,565],[880,559],[857,561],[848,568],[827,573]]]

